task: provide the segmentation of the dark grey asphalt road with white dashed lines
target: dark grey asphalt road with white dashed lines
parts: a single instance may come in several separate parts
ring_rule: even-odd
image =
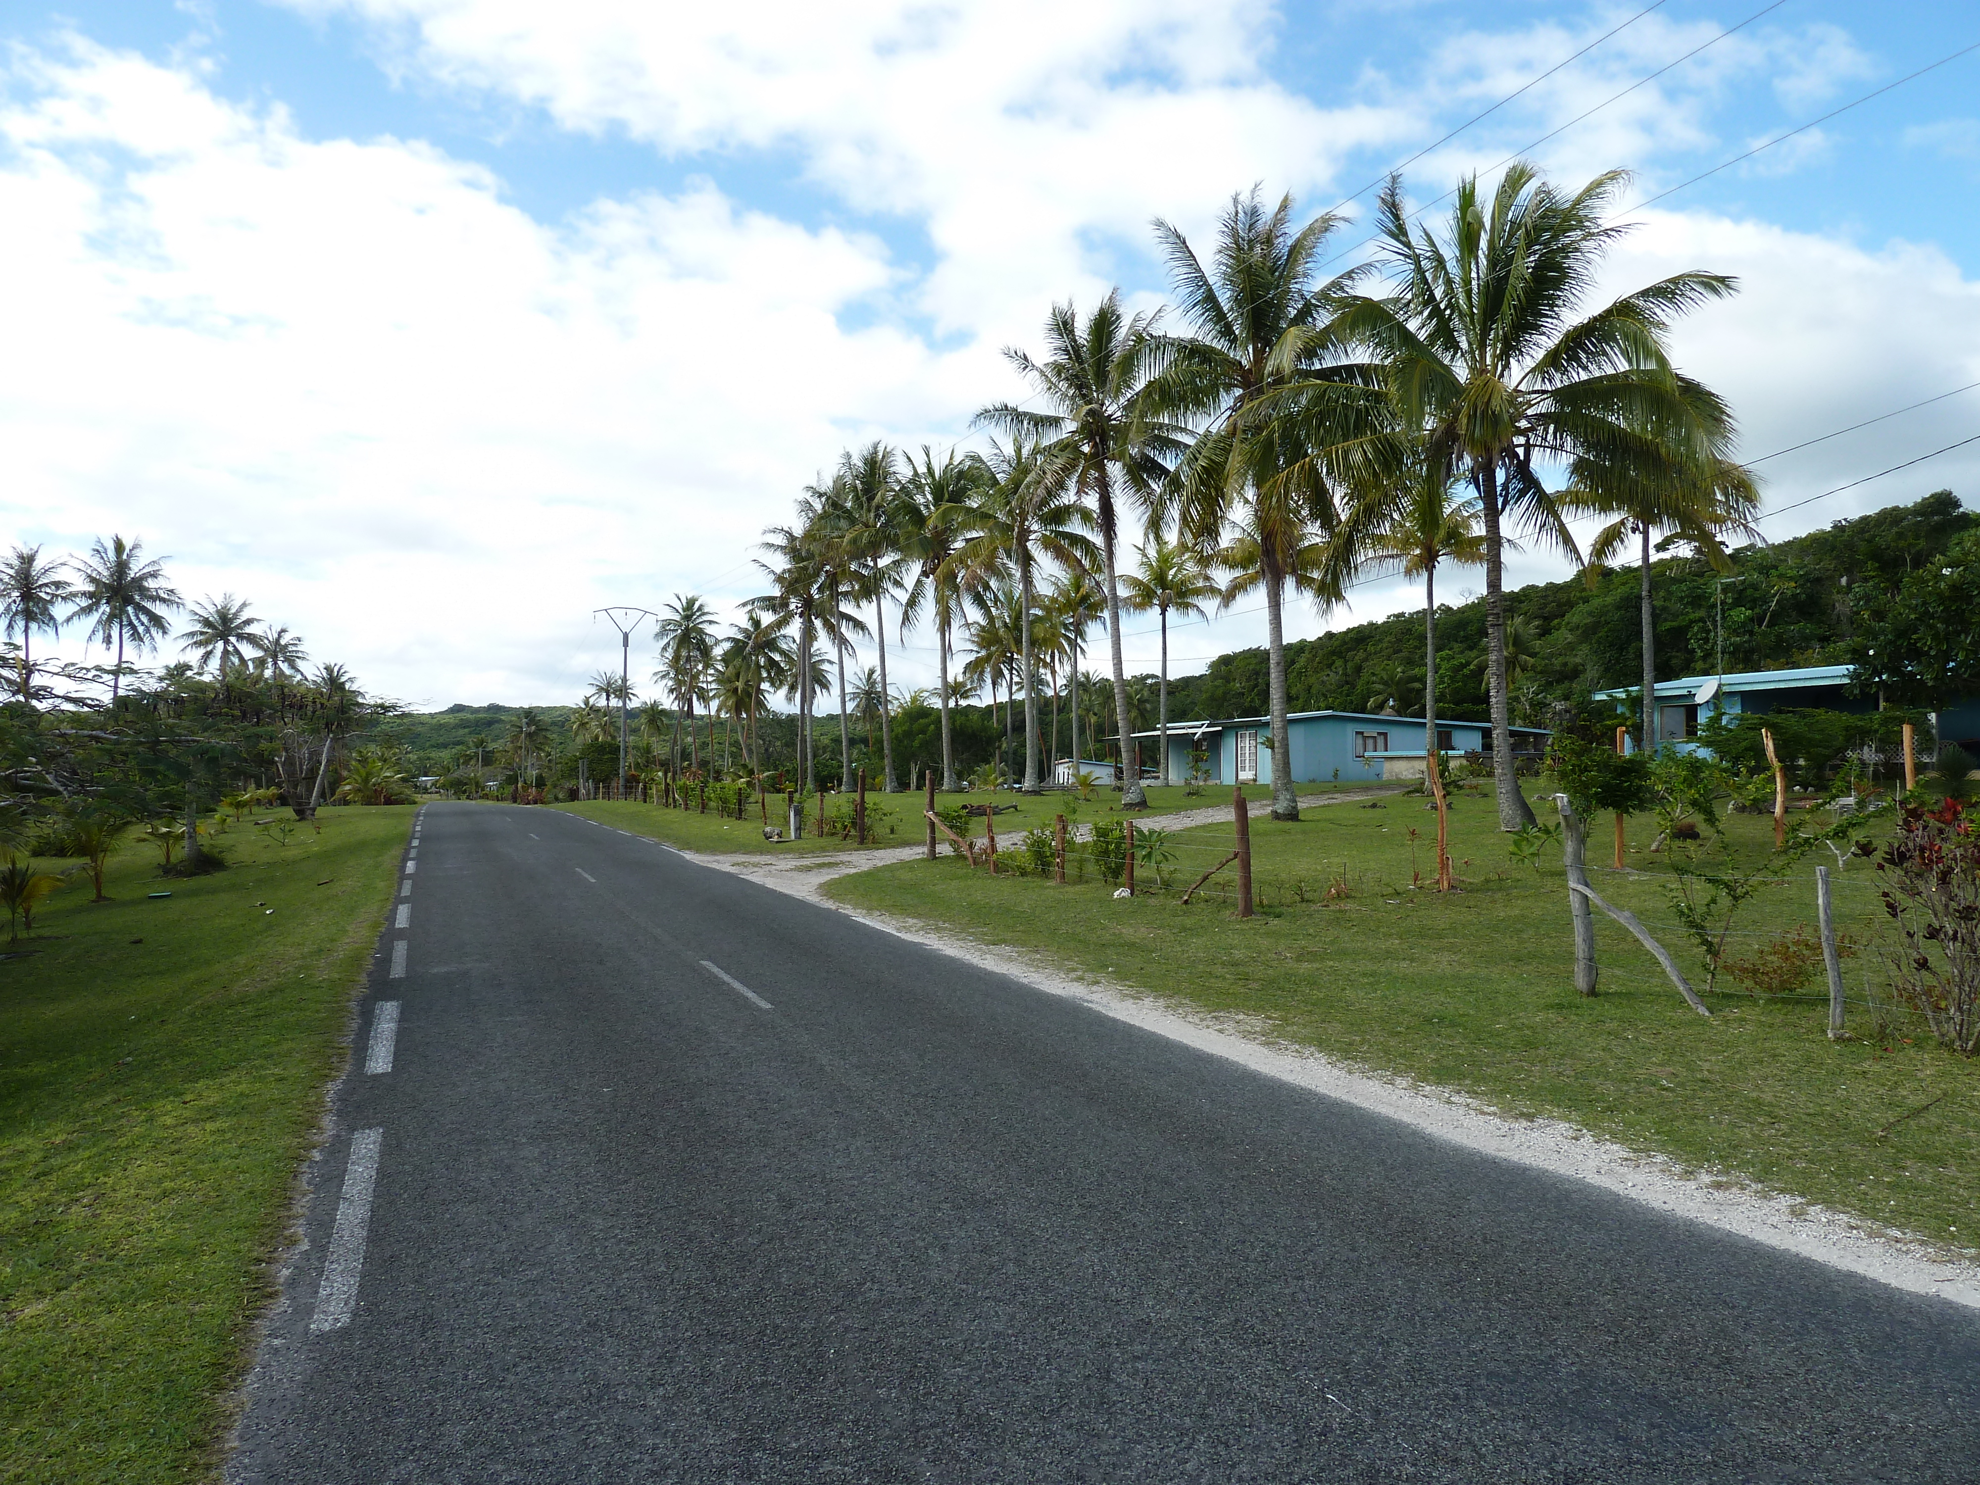
[[[1980,1479],[1968,1311],[574,816],[422,818],[242,1485]]]

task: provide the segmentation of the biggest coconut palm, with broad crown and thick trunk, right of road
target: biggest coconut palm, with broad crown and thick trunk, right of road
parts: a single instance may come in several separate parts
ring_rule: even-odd
[[[1608,489],[1709,481],[1729,457],[1725,404],[1679,376],[1671,321],[1732,293],[1719,273],[1675,273],[1586,311],[1602,257],[1628,228],[1610,202],[1628,176],[1568,194],[1519,160],[1491,198],[1459,182],[1441,234],[1412,228],[1402,178],[1378,206],[1378,249],[1392,293],[1362,299],[1354,331],[1386,358],[1406,428],[1469,475],[1485,533],[1485,640],[1499,828],[1533,822],[1513,772],[1505,667],[1505,539],[1525,527],[1574,552],[1534,461],[1602,469]]]

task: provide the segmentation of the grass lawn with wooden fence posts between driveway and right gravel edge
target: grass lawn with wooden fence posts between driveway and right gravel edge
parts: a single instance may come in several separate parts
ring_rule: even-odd
[[[1715,1018],[1703,1020],[1600,915],[1602,986],[1582,998],[1572,986],[1558,849],[1546,851],[1540,871],[1515,865],[1489,794],[1463,798],[1451,818],[1463,885],[1451,895],[1412,891],[1414,869],[1434,873],[1436,816],[1420,798],[1390,798],[1380,810],[1325,806],[1297,824],[1253,820],[1263,911],[1249,921],[1236,919],[1228,897],[1190,907],[1174,891],[1117,901],[1095,879],[1057,887],[990,877],[946,855],[842,877],[826,891],[984,942],[1045,950],[1069,968],[1192,1008],[1238,1012],[1269,1036],[1463,1089],[1507,1113],[1568,1119],[1689,1168],[1736,1172],[1934,1243],[1972,1243],[1980,1067],[1940,1051],[1909,1022],[1873,1034],[1863,1004],[1849,1006],[1863,1040],[1830,1041],[1820,972],[1808,984],[1820,998],[1721,992],[1711,996]],[[1420,834],[1416,867],[1410,830]],[[1768,820],[1734,816],[1729,830],[1738,853],[1764,853]],[[1663,895],[1669,875],[1645,849],[1651,834],[1647,820],[1632,822],[1635,869],[1594,871],[1596,891],[1635,911],[1703,984],[1699,954]],[[1592,836],[1590,857],[1608,861],[1608,824]],[[1230,828],[1204,826],[1178,845],[1170,887],[1220,859]],[[1833,857],[1820,859],[1833,875]],[[1336,879],[1350,895],[1323,903]],[[1835,911],[1867,944],[1843,962],[1849,996],[1861,1002],[1865,978],[1881,980],[1869,948],[1883,933],[1871,865],[1853,861],[1835,875]],[[1792,879],[1748,905],[1732,944],[1746,954],[1814,919],[1814,857],[1806,857]]]

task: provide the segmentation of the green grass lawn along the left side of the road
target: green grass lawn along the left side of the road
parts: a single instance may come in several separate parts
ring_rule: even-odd
[[[212,1469],[410,818],[127,847],[0,962],[0,1479]]]

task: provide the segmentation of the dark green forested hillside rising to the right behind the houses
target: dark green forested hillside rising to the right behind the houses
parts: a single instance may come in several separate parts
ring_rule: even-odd
[[[1966,511],[1950,491],[1927,495],[1915,505],[1893,505],[1855,521],[1814,531],[1794,541],[1752,544],[1732,552],[1732,574],[1721,580],[1711,564],[1689,552],[1673,552],[1653,566],[1657,608],[1657,675],[1697,675],[1719,669],[1719,626],[1715,602],[1725,602],[1725,669],[1778,669],[1784,665],[1830,665],[1851,657],[1849,644],[1865,612],[1865,596],[1897,592],[1909,574],[1932,574],[1948,546],[1980,533],[1980,515]],[[1970,544],[1970,543],[1968,543]],[[1443,574],[1443,586],[1477,582],[1469,570]],[[1511,661],[1515,721],[1544,725],[1552,701],[1586,699],[1590,691],[1632,685],[1641,669],[1637,570],[1614,568],[1596,584],[1582,578],[1542,582],[1507,594],[1511,610]],[[1960,616],[1972,628],[1972,616]],[[1297,640],[1287,645],[1287,679],[1293,711],[1382,711],[1394,703],[1412,713],[1424,703],[1424,620],[1398,614],[1374,624],[1356,624]],[[1152,675],[1129,683],[1137,727],[1156,721]],[[1111,713],[1105,687],[1089,689],[1085,707]],[[1437,610],[1437,705],[1449,717],[1485,719],[1485,600]],[[404,715],[388,725],[410,752],[418,772],[446,774],[477,739],[485,742],[489,768],[505,766],[503,742],[523,707],[455,705],[438,713]],[[570,744],[570,705],[535,707],[543,727],[539,748],[552,778],[576,778],[578,750]],[[818,719],[818,760],[828,782],[840,774],[840,719],[822,709]],[[1071,717],[1059,707],[1057,746],[1071,744]],[[1170,679],[1168,715],[1257,717],[1265,713],[1265,651],[1238,649],[1220,655],[1200,675]],[[1049,697],[1040,701],[1040,721],[1051,729]],[[701,758],[719,766],[739,766],[741,746],[721,719],[697,719]],[[853,713],[849,721],[853,766],[879,772],[875,715]],[[950,719],[956,766],[972,772],[1002,750],[1006,713],[986,705],[954,707]],[[1111,715],[1095,715],[1085,725],[1111,731]],[[764,764],[788,768],[796,756],[796,719],[766,715],[758,725]],[[867,739],[873,737],[869,748]],[[939,717],[929,705],[905,705],[893,719],[895,764],[905,776],[940,758]],[[1022,739],[1022,719],[1018,727]],[[659,739],[653,739],[655,742]],[[1022,746],[1022,741],[1016,744]],[[638,735],[636,750],[647,742]],[[618,766],[618,739],[596,739],[584,748],[594,778]]]

